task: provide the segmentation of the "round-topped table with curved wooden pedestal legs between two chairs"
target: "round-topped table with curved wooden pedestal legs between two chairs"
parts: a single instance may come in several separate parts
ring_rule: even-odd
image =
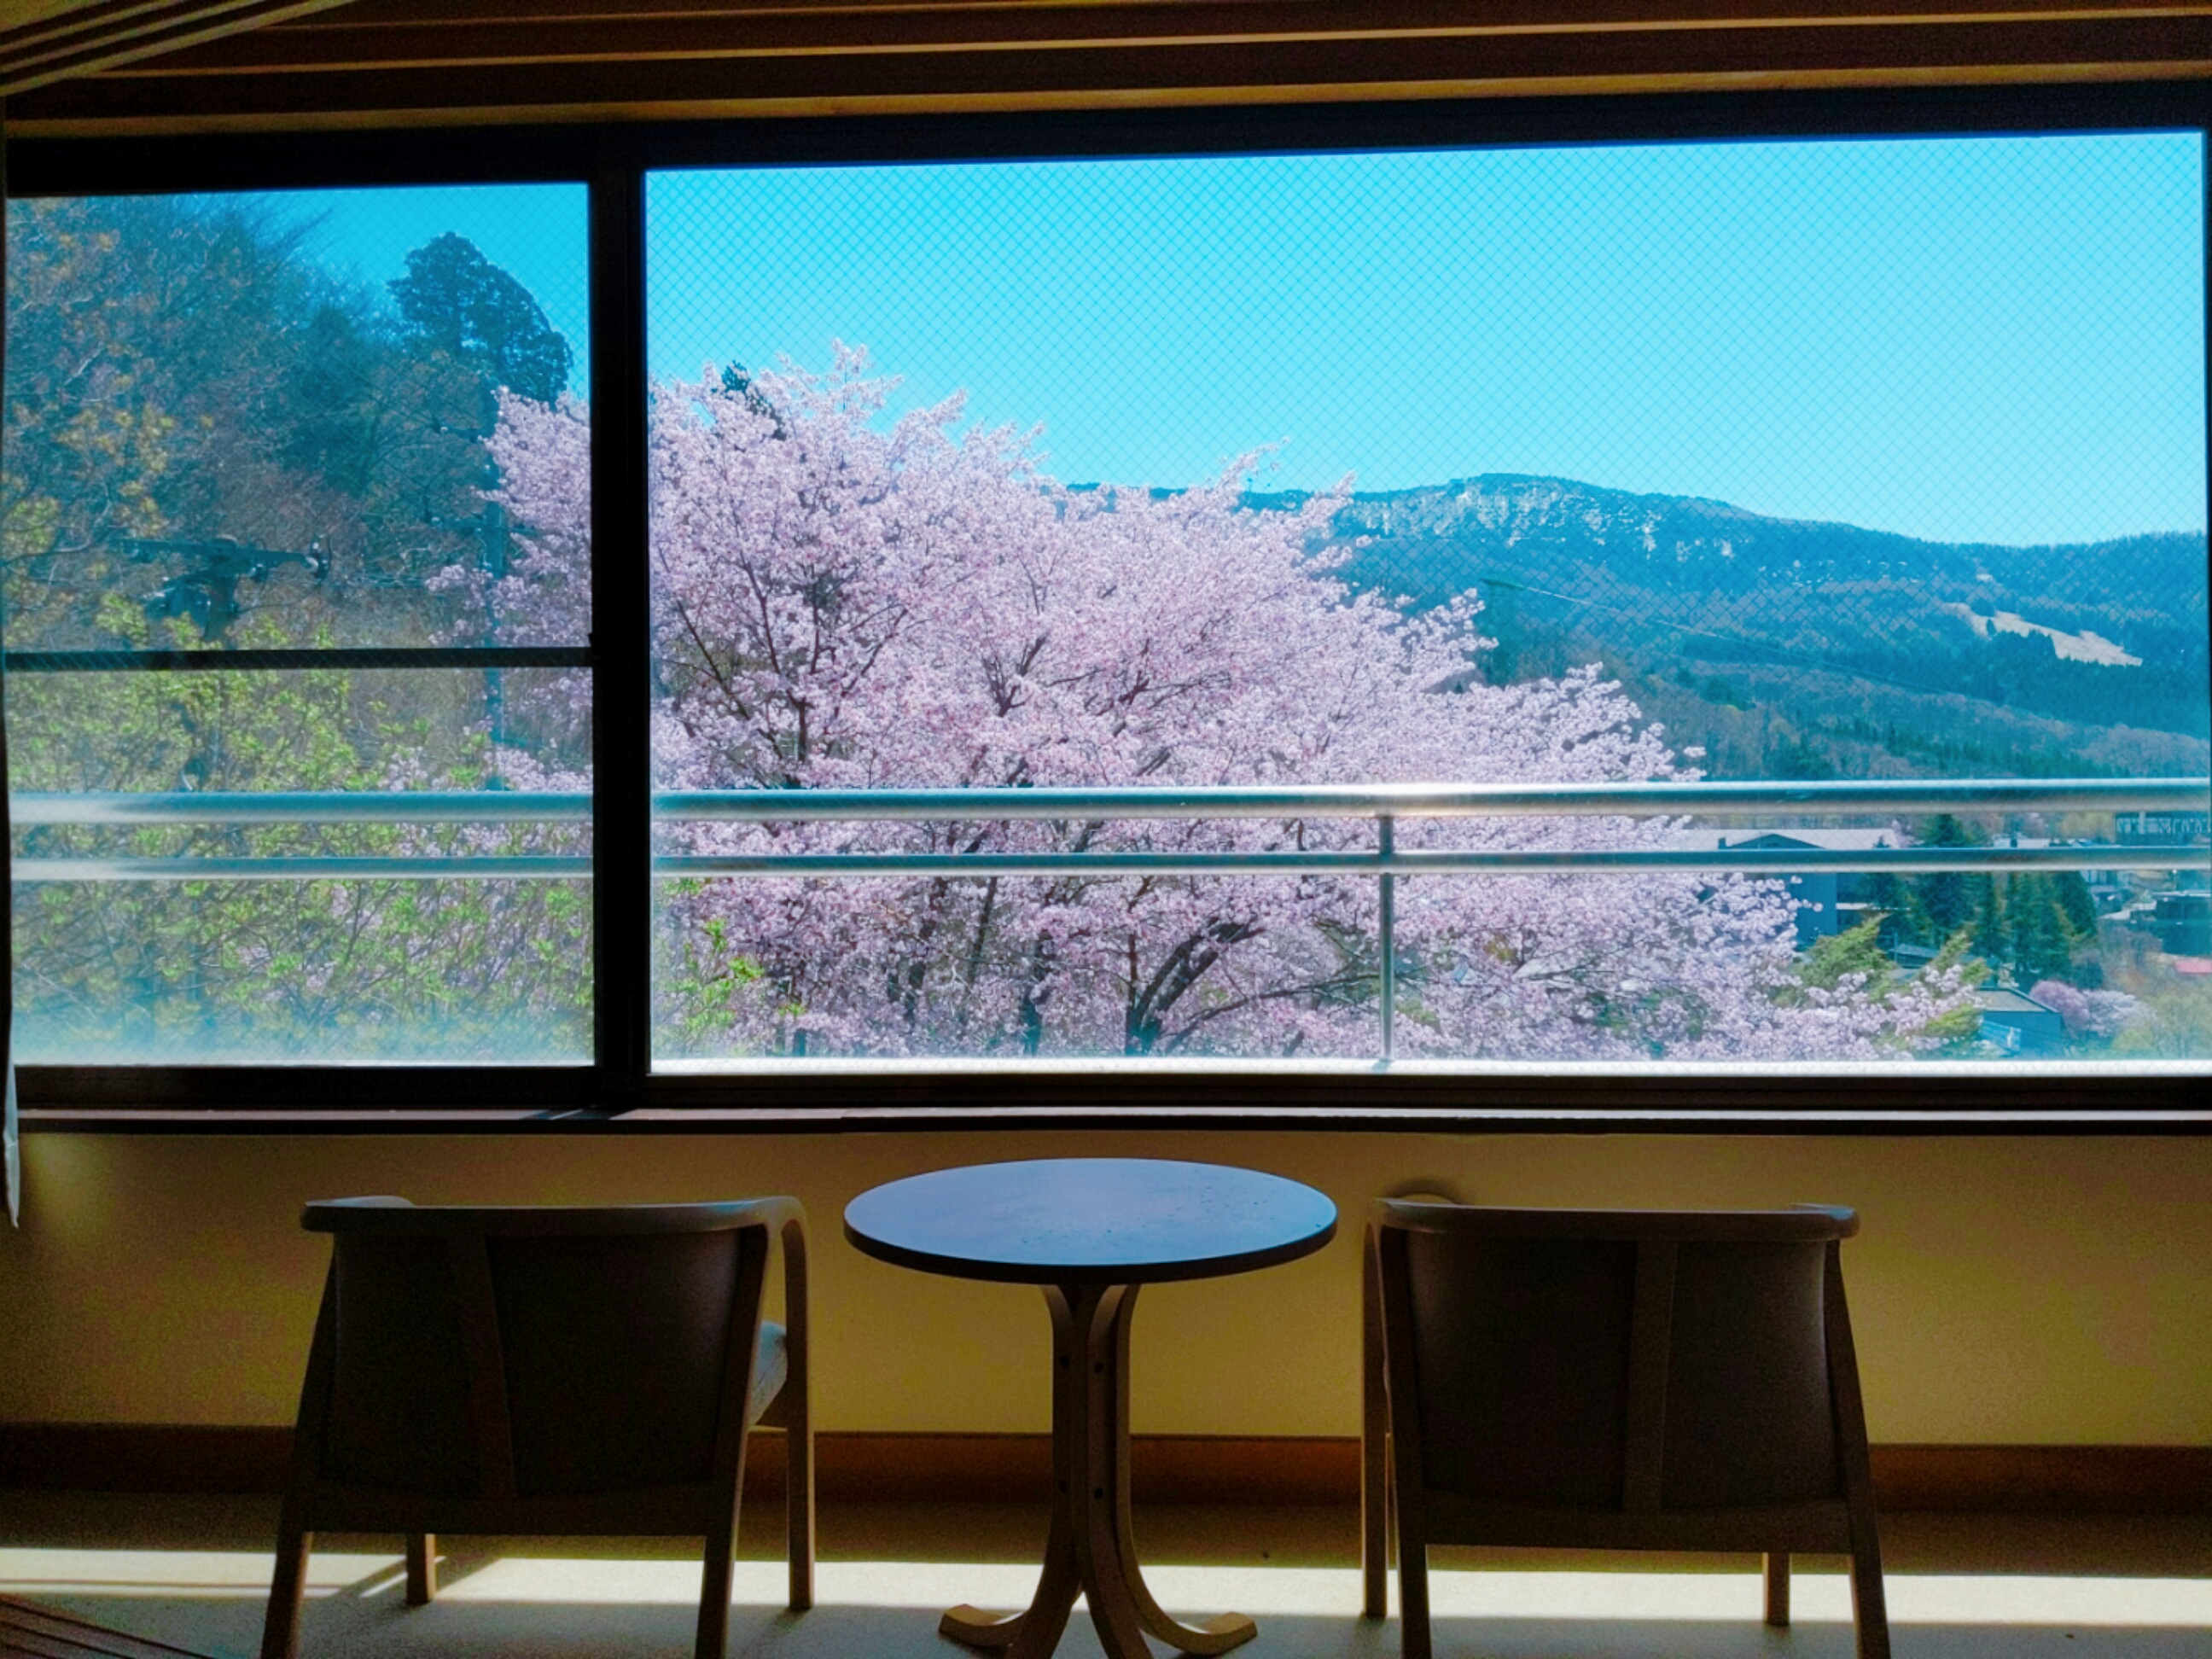
[[[1170,1619],[1144,1586],[1128,1522],[1128,1323],[1141,1285],[1274,1267],[1334,1234],[1336,1206],[1298,1181],[1126,1157],[936,1170],[845,1206],[856,1250],[1040,1285],[1053,1314],[1053,1528],[1037,1595],[1013,1617],[958,1606],[942,1635],[1046,1659],[1077,1595],[1108,1659],[1150,1659],[1146,1630],[1183,1652],[1228,1652],[1259,1635],[1239,1613]]]

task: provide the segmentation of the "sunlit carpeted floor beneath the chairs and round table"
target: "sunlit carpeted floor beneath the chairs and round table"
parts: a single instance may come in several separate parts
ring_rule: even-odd
[[[730,1652],[759,1659],[958,1659],[936,1635],[953,1601],[1015,1608],[1035,1584],[1040,1511],[832,1506],[818,1606],[781,1606],[774,1513],[750,1515]],[[1157,1509],[1139,1546],[1177,1613],[1250,1613],[1252,1659],[1394,1659],[1396,1621],[1358,1619],[1349,1511]],[[252,1655],[274,1506],[259,1500],[0,1493],[0,1595],[139,1644]],[[310,1659],[690,1652],[697,1557],[681,1542],[440,1540],[442,1593],[400,1595],[398,1540],[323,1540],[303,1626]],[[1905,1659],[2208,1659],[2212,1522],[1893,1515],[1885,1522]],[[1790,1632],[1759,1624],[1756,1562],[1438,1551],[1440,1659],[1847,1659],[1840,1562],[1803,1564]],[[0,1652],[11,1637],[0,1626]],[[82,1630],[80,1630],[82,1635]],[[49,1644],[66,1637],[51,1635]],[[144,1646],[18,1646],[31,1655]],[[1097,1659],[1077,1613],[1068,1659]]]

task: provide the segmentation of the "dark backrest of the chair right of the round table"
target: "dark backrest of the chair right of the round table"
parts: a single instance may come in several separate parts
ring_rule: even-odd
[[[1829,1318],[1854,1212],[1380,1199],[1371,1223],[1422,1486],[1646,1513],[1840,1495],[1829,1347],[1849,1334]]]

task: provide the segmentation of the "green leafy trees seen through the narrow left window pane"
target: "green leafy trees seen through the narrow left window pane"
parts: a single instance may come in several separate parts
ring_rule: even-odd
[[[11,208],[11,648],[431,644],[473,562],[489,356],[301,257],[301,228],[179,199]],[[498,288],[513,283],[493,272]],[[557,341],[557,336],[555,336]],[[564,347],[562,347],[564,349]],[[524,354],[526,356],[526,354]],[[544,356],[540,352],[540,356]],[[257,560],[254,549],[292,555]],[[199,588],[195,588],[195,582]],[[495,752],[473,672],[13,675],[18,792],[582,787],[575,734]],[[580,825],[18,825],[33,858],[588,847]],[[35,1055],[513,1057],[591,1044],[573,880],[33,880]]]

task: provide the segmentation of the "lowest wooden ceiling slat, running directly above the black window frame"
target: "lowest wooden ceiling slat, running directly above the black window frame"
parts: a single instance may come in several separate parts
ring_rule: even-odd
[[[664,62],[469,64],[420,71],[330,69],[221,77],[221,108],[199,131],[330,126],[347,117],[526,119],[588,113],[830,113],[865,108],[1093,106],[1272,97],[1447,95],[1447,88],[1909,84],[1927,80],[2112,80],[2212,71],[2212,18],[2037,22],[2004,33],[1933,22],[1913,29],[1739,29],[1586,38],[1261,42],[1095,51],[858,58],[684,58]],[[199,82],[204,86],[206,82]],[[192,84],[186,84],[192,91]],[[38,119],[128,124],[179,117],[179,82],[102,77],[49,88]],[[206,106],[201,106],[206,108]]]

